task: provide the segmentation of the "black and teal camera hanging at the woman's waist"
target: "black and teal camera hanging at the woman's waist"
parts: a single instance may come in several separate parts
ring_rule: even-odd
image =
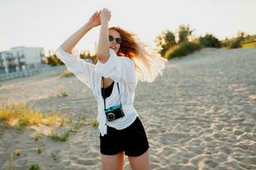
[[[125,116],[122,105],[113,105],[105,109],[105,113],[109,122]]]

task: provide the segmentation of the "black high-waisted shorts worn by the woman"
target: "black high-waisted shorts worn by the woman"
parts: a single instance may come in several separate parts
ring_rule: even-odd
[[[100,134],[100,139],[101,153],[108,156],[121,151],[125,151],[126,156],[141,156],[149,148],[143,123],[138,117],[129,127],[122,130],[108,127],[108,134]]]

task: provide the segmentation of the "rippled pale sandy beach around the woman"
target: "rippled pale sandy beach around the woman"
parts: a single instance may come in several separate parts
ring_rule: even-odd
[[[96,120],[96,99],[76,77],[56,72],[0,84],[0,104],[24,101]],[[68,96],[56,97],[61,92]],[[256,48],[204,48],[171,59],[155,82],[138,82],[134,106],[148,134],[151,169],[256,169]],[[48,130],[0,126],[0,169],[102,169],[96,127],[83,126],[66,142],[49,139]],[[15,150],[21,154],[11,161]],[[124,169],[131,169],[127,157]]]

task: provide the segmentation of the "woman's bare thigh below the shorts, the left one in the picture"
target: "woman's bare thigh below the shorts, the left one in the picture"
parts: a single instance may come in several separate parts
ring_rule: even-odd
[[[121,170],[124,164],[124,151],[119,152],[117,155],[108,156],[102,155],[102,169],[103,170]]]

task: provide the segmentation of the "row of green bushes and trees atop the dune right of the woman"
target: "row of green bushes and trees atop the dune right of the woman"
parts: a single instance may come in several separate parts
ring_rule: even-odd
[[[181,25],[176,33],[170,30],[162,31],[154,40],[160,48],[159,53],[166,59],[182,57],[194,53],[201,48],[241,48],[256,46],[256,36],[246,35],[239,31],[236,37],[219,41],[212,34],[195,37],[189,26]]]

